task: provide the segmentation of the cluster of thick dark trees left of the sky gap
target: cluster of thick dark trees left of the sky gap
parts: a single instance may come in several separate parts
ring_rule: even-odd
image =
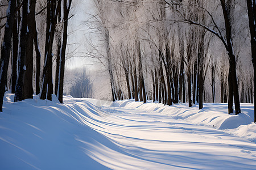
[[[14,101],[30,99],[34,91],[40,95],[40,99],[51,100],[53,60],[56,62],[55,94],[62,103],[68,17],[72,0],[0,2],[1,11],[6,11],[6,15],[1,16],[5,24],[0,25],[4,29],[0,39],[0,111],[5,91],[9,89],[15,93]],[[40,49],[44,49],[44,52]]]

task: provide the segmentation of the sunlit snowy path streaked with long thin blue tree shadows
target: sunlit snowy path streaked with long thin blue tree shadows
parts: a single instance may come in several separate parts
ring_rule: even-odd
[[[114,115],[105,117],[102,129],[96,129],[122,151],[106,149],[95,157],[113,169],[255,169],[256,166],[254,143],[154,112],[115,108]]]

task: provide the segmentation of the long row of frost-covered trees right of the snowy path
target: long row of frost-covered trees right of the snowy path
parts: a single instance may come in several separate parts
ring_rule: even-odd
[[[236,114],[254,103],[256,6],[246,2],[94,0],[88,25],[105,50],[93,40],[89,55],[105,63],[112,100],[221,102],[229,113],[234,101]]]

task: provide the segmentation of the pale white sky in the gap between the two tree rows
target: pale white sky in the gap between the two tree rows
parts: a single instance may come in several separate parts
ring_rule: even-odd
[[[89,70],[95,70],[96,65],[91,58],[86,57],[86,39],[88,38],[88,27],[86,27],[86,20],[92,14],[93,3],[92,0],[73,0],[72,10],[70,16],[74,16],[68,23],[68,48],[67,56],[75,56],[68,59],[66,67],[73,69],[76,67],[87,67]],[[97,69],[98,70],[98,69]]]

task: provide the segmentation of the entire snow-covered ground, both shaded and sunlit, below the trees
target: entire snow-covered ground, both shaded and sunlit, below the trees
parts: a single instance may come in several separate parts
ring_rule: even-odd
[[[64,103],[7,94],[0,169],[255,169],[253,105],[172,107],[66,96]],[[249,141],[250,140],[250,141]]]

